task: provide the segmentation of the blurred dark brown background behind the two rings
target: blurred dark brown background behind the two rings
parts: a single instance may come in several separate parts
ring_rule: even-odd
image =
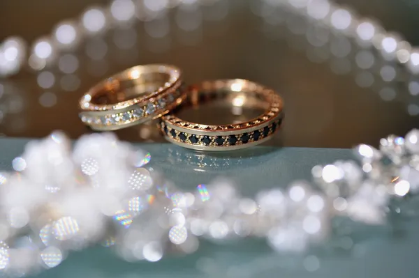
[[[418,77],[277,2],[2,0],[0,41],[21,36],[32,56],[16,75],[0,78],[1,136],[64,130],[76,139],[90,132],[78,118],[80,95],[105,77],[146,63],[178,65],[188,84],[244,78],[275,88],[286,102],[286,120],[270,145],[376,146],[388,134],[418,126]],[[335,2],[419,44],[419,2]],[[117,134],[128,141],[164,141],[155,123]]]

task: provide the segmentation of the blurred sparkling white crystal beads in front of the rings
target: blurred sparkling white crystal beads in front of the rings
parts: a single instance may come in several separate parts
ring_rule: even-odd
[[[201,238],[265,238],[277,252],[304,252],[332,234],[334,217],[383,224],[391,199],[419,191],[419,130],[380,145],[354,148],[360,163],[314,167],[313,183],[251,199],[225,178],[183,192],[147,168],[152,155],[113,134],[85,135],[72,150],[54,132],[29,142],[12,161],[15,171],[0,174],[0,271],[54,268],[68,252],[98,243],[126,261],[159,261],[169,250],[191,254]]]

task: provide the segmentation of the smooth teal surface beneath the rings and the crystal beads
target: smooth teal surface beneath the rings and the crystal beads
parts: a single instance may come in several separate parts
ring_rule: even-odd
[[[0,171],[11,169],[27,140],[0,139]],[[256,147],[242,152],[205,155],[170,144],[138,144],[151,154],[147,165],[185,190],[216,176],[234,178],[244,195],[267,187],[285,187],[307,179],[311,167],[353,158],[351,150]],[[417,218],[390,217],[385,226],[370,227],[344,219],[335,221],[336,236],[304,256],[279,255],[263,240],[228,245],[201,242],[196,254],[168,255],[158,263],[126,263],[112,250],[92,247],[71,254],[39,278],[139,277],[418,277]]]

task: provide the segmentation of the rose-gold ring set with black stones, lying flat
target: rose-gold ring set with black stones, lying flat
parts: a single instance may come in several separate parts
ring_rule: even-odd
[[[186,102],[161,118],[161,130],[166,139],[186,148],[217,151],[261,144],[272,138],[284,118],[284,102],[277,92],[244,79],[203,82],[189,88],[186,95]],[[216,98],[222,98],[223,103],[229,102],[233,109],[251,108],[258,100],[263,103],[263,113],[250,121],[227,125],[191,123],[177,116],[181,109],[188,109],[188,106],[199,109],[200,103]],[[214,116],[214,112],[205,116]]]

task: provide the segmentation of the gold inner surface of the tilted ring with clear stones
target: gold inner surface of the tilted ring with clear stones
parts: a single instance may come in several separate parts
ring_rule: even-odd
[[[170,79],[162,72],[145,72],[136,79],[109,79],[94,92],[91,103],[95,105],[115,105],[138,97],[147,97],[159,90]]]

